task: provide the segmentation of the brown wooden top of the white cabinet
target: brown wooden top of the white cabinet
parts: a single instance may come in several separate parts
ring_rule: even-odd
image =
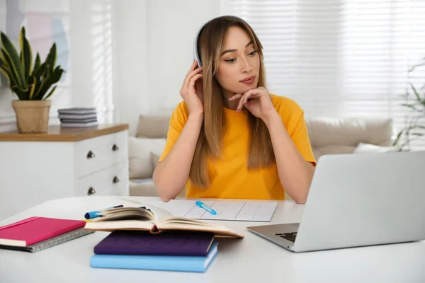
[[[20,134],[17,130],[1,132],[0,141],[81,141],[126,129],[128,129],[128,124],[98,125],[97,127],[87,128],[62,128],[57,125],[50,126],[45,134]]]

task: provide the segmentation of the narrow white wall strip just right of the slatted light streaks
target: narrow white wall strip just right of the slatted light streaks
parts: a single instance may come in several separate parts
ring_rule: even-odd
[[[113,4],[113,93],[115,121],[128,123],[135,134],[137,119],[149,110],[147,95],[147,1]]]

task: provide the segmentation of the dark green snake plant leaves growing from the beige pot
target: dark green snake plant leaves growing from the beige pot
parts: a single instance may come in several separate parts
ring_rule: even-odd
[[[55,92],[56,86],[49,91],[50,87],[57,83],[64,70],[56,64],[56,44],[53,43],[47,54],[45,62],[41,62],[40,54],[37,53],[33,64],[33,51],[26,38],[25,28],[21,28],[19,34],[21,54],[18,54],[11,40],[1,33],[0,71],[8,79],[13,93],[19,100],[46,100]],[[47,93],[47,91],[49,91]]]

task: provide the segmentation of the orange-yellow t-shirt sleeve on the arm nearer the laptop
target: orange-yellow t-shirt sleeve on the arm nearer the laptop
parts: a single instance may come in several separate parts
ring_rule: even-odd
[[[304,111],[299,110],[297,113],[297,122],[294,129],[290,132],[290,138],[293,140],[293,143],[297,147],[298,151],[305,161],[310,162],[313,166],[316,166],[316,160],[314,159],[312,146],[310,144],[310,138],[308,137],[307,125],[304,119]],[[294,113],[295,114],[295,113]]]

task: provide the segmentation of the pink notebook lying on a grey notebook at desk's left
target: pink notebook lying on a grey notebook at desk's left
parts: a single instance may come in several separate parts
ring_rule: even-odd
[[[26,247],[84,227],[86,221],[30,217],[0,227],[0,245]]]

